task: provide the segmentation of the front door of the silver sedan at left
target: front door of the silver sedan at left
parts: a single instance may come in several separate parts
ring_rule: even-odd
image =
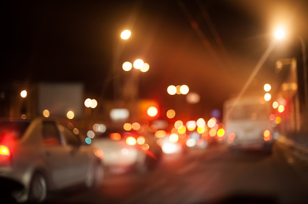
[[[73,129],[63,126],[62,134],[65,139],[67,148],[70,150],[70,173],[73,177],[72,182],[83,182],[87,177],[91,160],[88,156],[88,151],[81,147],[81,139],[78,134],[73,132]]]

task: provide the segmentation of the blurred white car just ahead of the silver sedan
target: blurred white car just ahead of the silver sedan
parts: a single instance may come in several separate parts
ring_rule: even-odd
[[[93,138],[92,145],[102,150],[106,168],[121,172],[152,170],[159,164],[162,155],[154,134],[147,131],[107,128]]]

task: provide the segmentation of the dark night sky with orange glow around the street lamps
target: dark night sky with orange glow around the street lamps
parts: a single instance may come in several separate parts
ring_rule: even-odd
[[[241,90],[279,21],[308,36],[306,0],[4,0],[0,7],[2,83],[81,81],[87,94],[110,98],[115,78],[128,75],[111,68],[142,58],[150,70],[140,74],[141,98],[165,102],[168,85],[187,84],[209,110]],[[123,43],[125,28],[132,36]],[[274,49],[251,86],[273,79],[277,58],[298,54],[292,42]]]

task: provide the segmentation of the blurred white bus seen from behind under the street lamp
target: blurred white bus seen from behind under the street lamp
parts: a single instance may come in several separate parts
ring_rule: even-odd
[[[234,149],[260,149],[271,152],[274,129],[270,102],[259,96],[243,96],[224,102],[224,143]]]

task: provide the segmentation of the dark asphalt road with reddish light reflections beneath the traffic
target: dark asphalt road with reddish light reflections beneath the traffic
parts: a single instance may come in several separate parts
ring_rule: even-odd
[[[273,153],[224,146],[167,155],[148,173],[106,174],[104,185],[62,191],[57,204],[307,204],[308,163],[283,144]]]

